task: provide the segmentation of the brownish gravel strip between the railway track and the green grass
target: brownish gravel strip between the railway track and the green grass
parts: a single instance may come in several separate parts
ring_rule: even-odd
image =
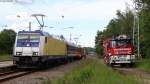
[[[53,80],[59,77],[63,77],[66,72],[69,72],[72,69],[76,68],[81,64],[81,61],[85,60],[86,59],[77,60],[72,63],[59,65],[57,67],[49,68],[42,71],[37,71],[29,75],[3,82],[1,84],[42,84],[45,80]]]

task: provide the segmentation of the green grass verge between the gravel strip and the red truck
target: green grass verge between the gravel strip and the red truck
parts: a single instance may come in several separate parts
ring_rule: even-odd
[[[44,84],[141,84],[133,77],[121,75],[97,61],[89,60],[66,73],[63,78],[47,80]]]

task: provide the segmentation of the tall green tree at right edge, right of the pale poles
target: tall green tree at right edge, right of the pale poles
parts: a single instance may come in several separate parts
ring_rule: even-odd
[[[134,0],[138,6],[140,20],[140,51],[146,58],[150,58],[150,0]]]

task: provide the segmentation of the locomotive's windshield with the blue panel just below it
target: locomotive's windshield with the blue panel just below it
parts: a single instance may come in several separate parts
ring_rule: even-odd
[[[40,37],[37,35],[18,35],[17,47],[39,47]]]

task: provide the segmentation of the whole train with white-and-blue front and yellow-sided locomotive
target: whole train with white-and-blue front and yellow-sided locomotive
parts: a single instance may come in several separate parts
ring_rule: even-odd
[[[41,30],[19,31],[13,49],[13,63],[22,67],[40,67],[86,57],[85,49]]]

